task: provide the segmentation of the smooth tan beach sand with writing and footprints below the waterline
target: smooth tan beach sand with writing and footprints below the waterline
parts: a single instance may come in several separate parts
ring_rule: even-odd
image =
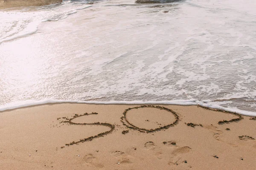
[[[132,109],[126,111],[125,119],[128,108]],[[243,116],[218,124],[236,118],[227,112],[180,105],[61,103],[3,111],[0,169],[254,170],[256,120]],[[198,126],[188,126],[191,122]],[[87,139],[97,134],[103,137]]]

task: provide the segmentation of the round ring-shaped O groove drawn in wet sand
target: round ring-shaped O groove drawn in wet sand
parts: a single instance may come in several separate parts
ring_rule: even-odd
[[[165,125],[165,126],[158,127],[158,128],[155,128],[155,129],[145,129],[145,128],[137,127],[137,126],[133,125],[131,122],[129,122],[127,120],[126,116],[127,116],[128,111],[130,111],[131,109],[138,109],[138,108],[157,108],[157,109],[160,109],[160,110],[168,111],[168,112],[172,113],[175,116],[175,121],[173,123],[169,124],[169,125]],[[126,127],[130,128],[130,129],[138,130],[138,131],[143,132],[143,133],[151,133],[151,132],[160,131],[160,130],[163,130],[163,129],[168,129],[171,126],[177,125],[177,123],[179,122],[179,116],[177,115],[177,113],[175,111],[172,111],[171,109],[165,108],[163,106],[142,105],[142,106],[137,106],[137,107],[134,107],[134,108],[128,108],[128,109],[125,109],[125,111],[123,112],[123,115],[124,116],[121,117],[121,122],[122,122],[123,125],[125,125]]]

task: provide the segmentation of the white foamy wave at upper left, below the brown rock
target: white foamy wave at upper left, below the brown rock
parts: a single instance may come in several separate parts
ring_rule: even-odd
[[[0,11],[0,44],[36,33],[41,22],[63,20],[89,7],[91,5],[64,2],[62,5]]]

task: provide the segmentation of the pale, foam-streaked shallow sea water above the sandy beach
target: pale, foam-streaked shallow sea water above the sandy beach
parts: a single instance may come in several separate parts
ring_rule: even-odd
[[[182,99],[256,114],[256,3],[152,2],[0,11],[0,105]]]

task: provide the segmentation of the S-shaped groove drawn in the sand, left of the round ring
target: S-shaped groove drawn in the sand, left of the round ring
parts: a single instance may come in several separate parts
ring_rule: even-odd
[[[84,113],[84,114],[81,114],[81,115],[75,114],[75,116],[73,116],[73,118],[71,118],[71,119],[67,119],[66,117],[63,117],[63,119],[66,119],[67,121],[62,121],[62,122],[63,123],[69,123],[70,125],[98,125],[98,126],[106,126],[106,127],[110,127],[111,130],[105,131],[103,133],[99,133],[99,134],[97,134],[95,136],[90,136],[88,138],[80,139],[77,142],[75,142],[75,141],[70,142],[69,144],[65,144],[66,146],[70,146],[70,145],[73,145],[73,144],[79,144],[80,142],[92,141],[95,138],[103,137],[103,136],[108,135],[109,133],[113,132],[113,130],[115,129],[115,125],[111,125],[109,123],[100,123],[100,122],[95,122],[95,123],[74,123],[74,122],[72,122],[72,120],[75,119],[75,118],[78,118],[78,117],[81,117],[81,116],[93,115],[93,114],[97,115],[98,113],[95,113],[95,112],[90,113],[90,114]],[[57,119],[59,120],[61,118],[57,118]],[[61,148],[63,148],[63,147],[61,147]]]

